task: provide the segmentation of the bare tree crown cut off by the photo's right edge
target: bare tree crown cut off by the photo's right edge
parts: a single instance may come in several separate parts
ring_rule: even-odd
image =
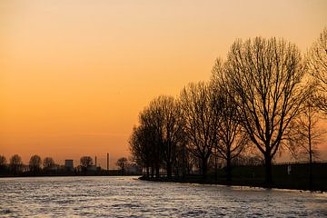
[[[314,102],[327,114],[327,28],[323,29],[320,37],[309,50],[307,64],[317,82],[318,92]]]

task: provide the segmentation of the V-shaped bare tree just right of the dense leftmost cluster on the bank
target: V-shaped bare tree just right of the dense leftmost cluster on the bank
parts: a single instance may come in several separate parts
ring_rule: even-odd
[[[203,179],[217,141],[219,115],[215,97],[209,84],[204,83],[189,84],[180,95],[184,130],[189,142],[187,148],[200,161]]]

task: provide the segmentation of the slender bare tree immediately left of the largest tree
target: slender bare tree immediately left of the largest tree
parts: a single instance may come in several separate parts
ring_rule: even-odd
[[[227,181],[232,181],[232,160],[243,152],[249,137],[245,133],[239,120],[237,105],[233,103],[233,93],[225,85],[224,66],[220,59],[217,59],[213,66],[212,88],[214,93],[221,93],[221,120],[218,123],[218,139],[216,152],[218,156],[226,161]]]

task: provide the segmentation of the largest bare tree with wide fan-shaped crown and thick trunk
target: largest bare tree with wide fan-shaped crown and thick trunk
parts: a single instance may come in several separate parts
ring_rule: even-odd
[[[272,158],[308,97],[301,54],[284,40],[237,40],[228,54],[226,78],[240,122],[264,155],[265,179],[272,184]],[[284,144],[282,144],[284,145]]]

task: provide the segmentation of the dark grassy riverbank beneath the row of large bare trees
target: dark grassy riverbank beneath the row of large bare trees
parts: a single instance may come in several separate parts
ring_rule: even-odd
[[[287,164],[272,166],[272,188],[310,190],[309,185],[309,164],[292,164],[291,173],[287,173]],[[209,184],[230,184],[252,187],[266,187],[264,183],[263,166],[237,166],[233,167],[233,181],[228,183],[224,170],[217,173],[210,172],[203,180],[200,175],[186,175],[184,177],[167,178],[146,178],[142,180],[176,183],[209,183]],[[327,192],[327,163],[314,163],[312,167],[312,190]]]

